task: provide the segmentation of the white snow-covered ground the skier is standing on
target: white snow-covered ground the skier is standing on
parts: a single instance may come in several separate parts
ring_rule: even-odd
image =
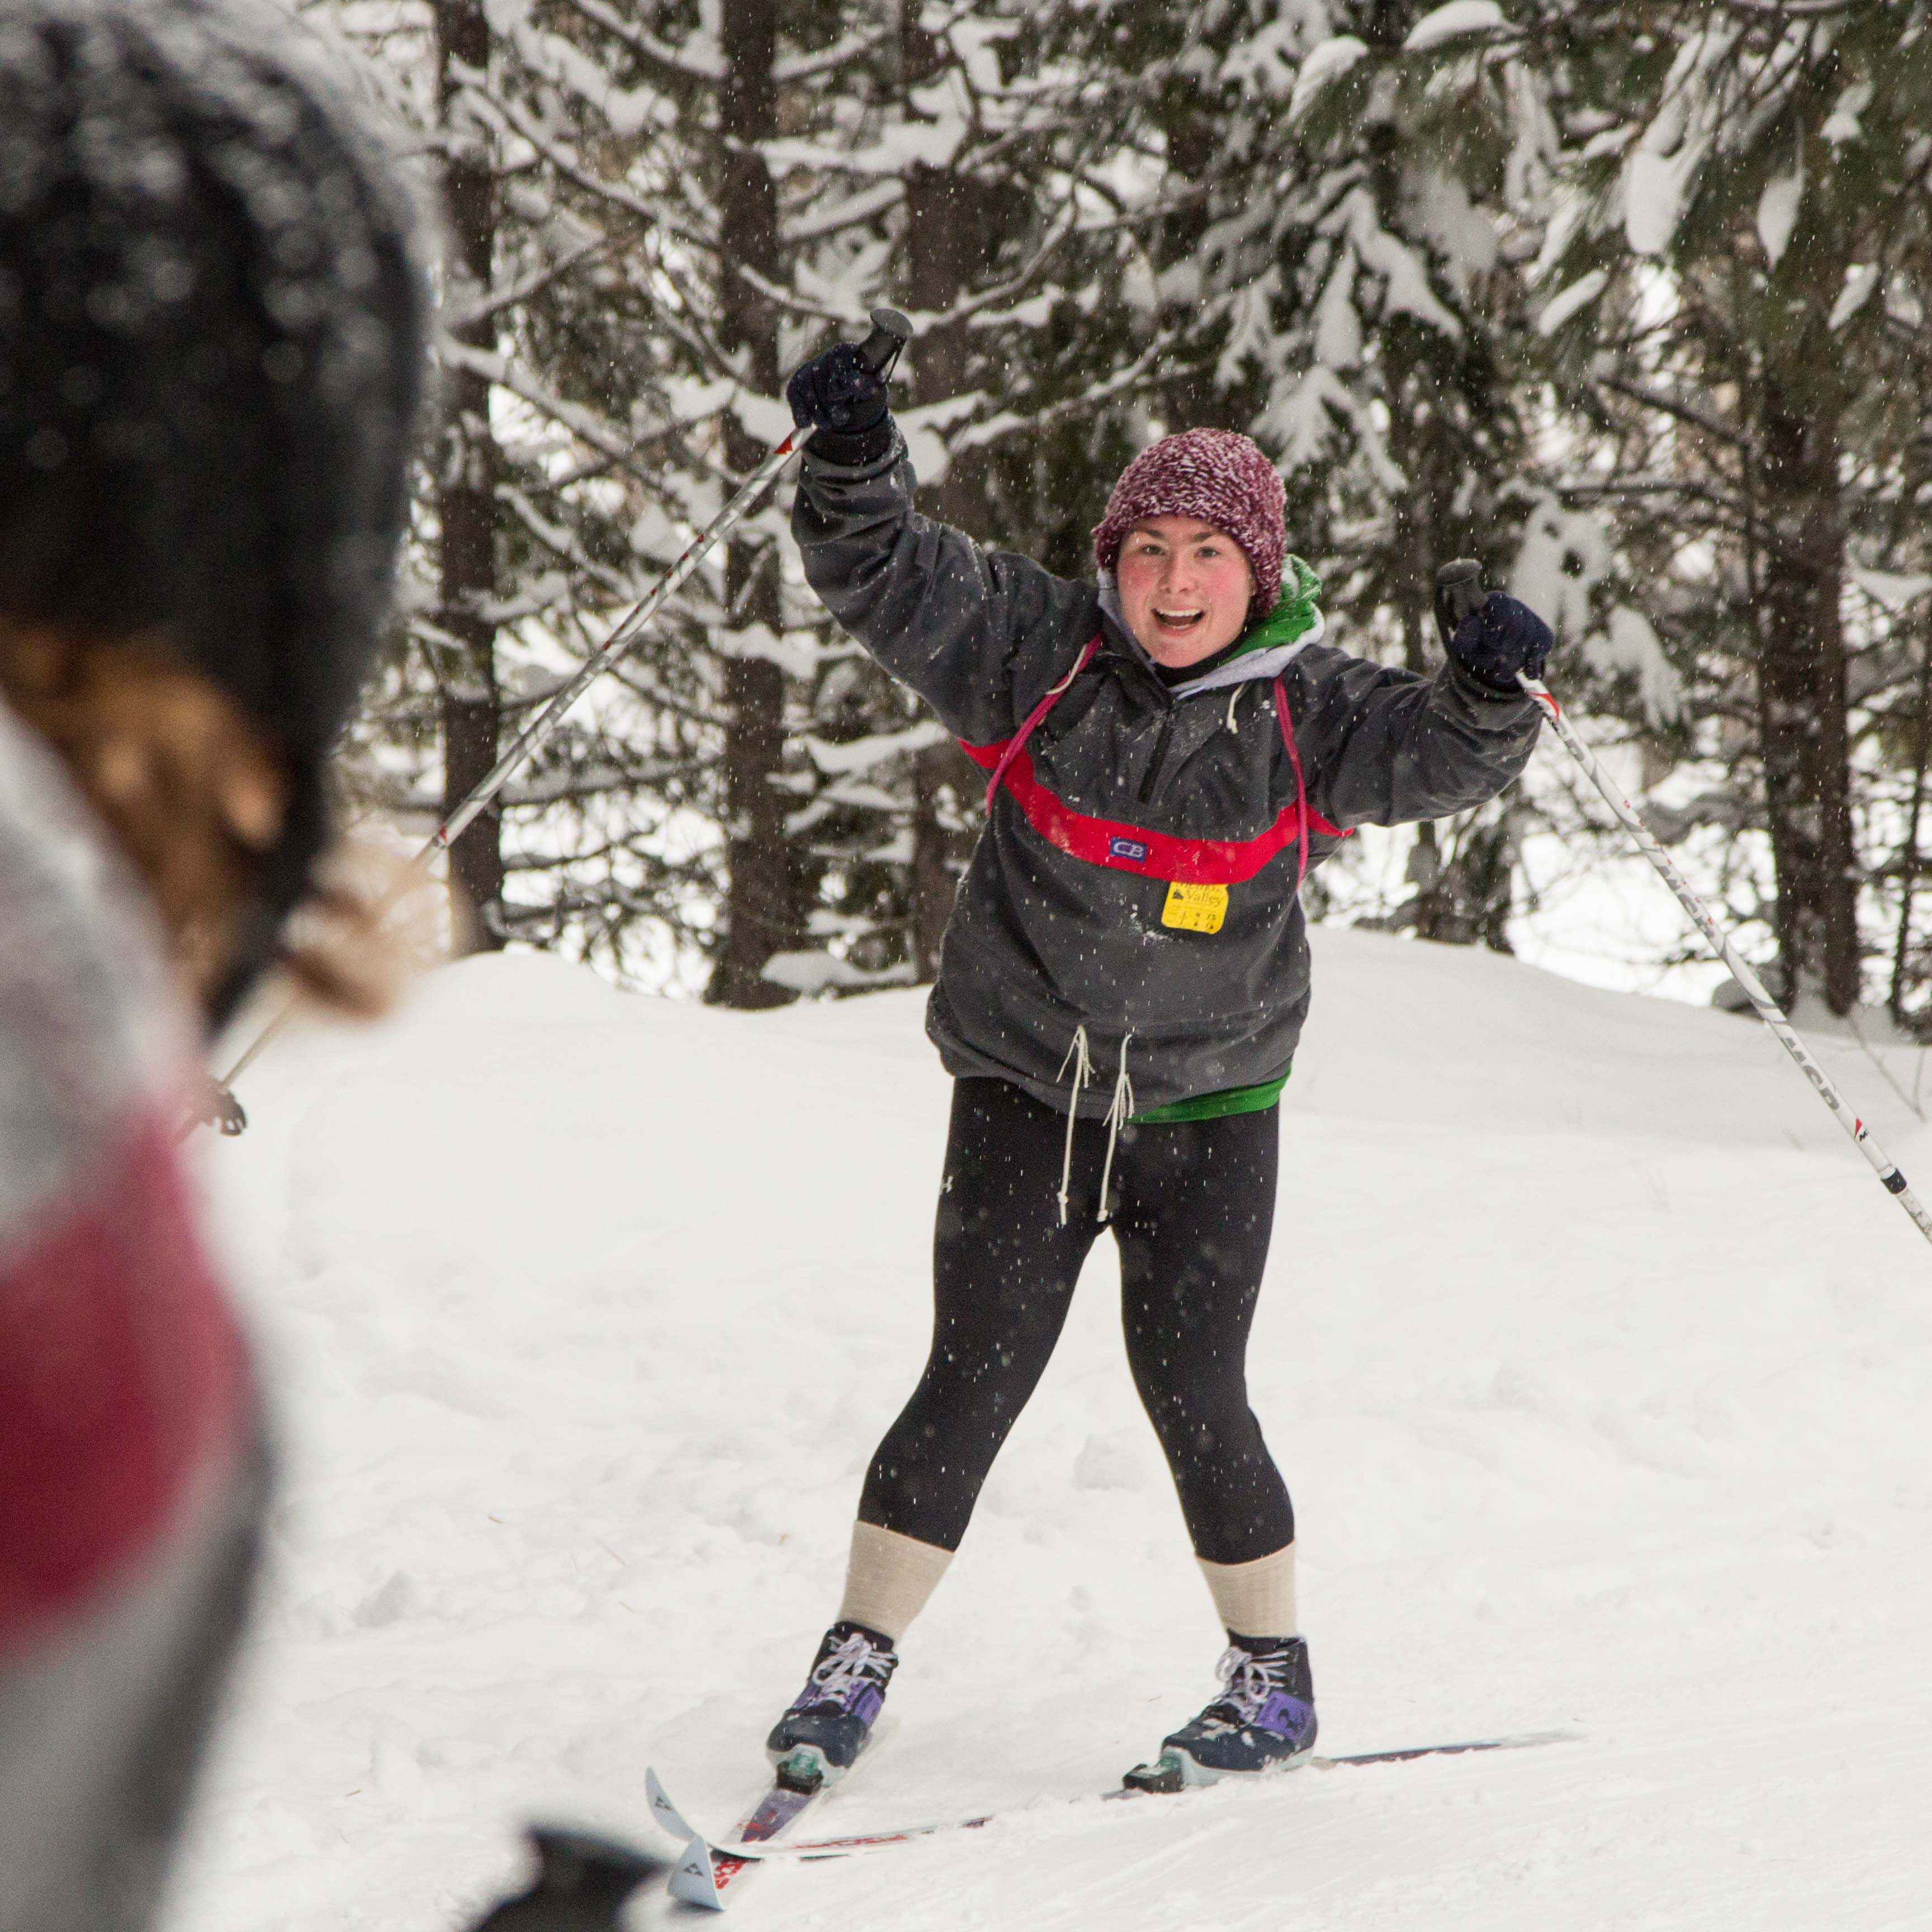
[[[1010,1816],[736,1917],[1932,1922],[1932,1252],[1754,1022],[1360,933],[1316,960],[1252,1389],[1323,1745],[1575,1741],[1095,1801],[1221,1648],[1103,1244],[825,1824]],[[437,1932],[524,1816],[649,1839],[647,1764],[726,1828],[925,1347],[920,1001],[730,1016],[475,960],[245,1099],[201,1157],[286,1470],[180,1932]]]

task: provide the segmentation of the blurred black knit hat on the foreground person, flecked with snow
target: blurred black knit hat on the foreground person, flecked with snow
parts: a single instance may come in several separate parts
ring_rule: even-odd
[[[253,0],[0,0],[0,616],[162,638],[278,748],[253,964],[325,838],[423,384],[419,218],[365,122]]]

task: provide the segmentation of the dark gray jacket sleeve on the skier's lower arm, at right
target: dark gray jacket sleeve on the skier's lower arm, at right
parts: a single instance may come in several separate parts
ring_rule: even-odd
[[[1530,761],[1542,713],[1459,665],[1434,678],[1327,645],[1294,661],[1294,744],[1331,825],[1406,825],[1495,798]]]

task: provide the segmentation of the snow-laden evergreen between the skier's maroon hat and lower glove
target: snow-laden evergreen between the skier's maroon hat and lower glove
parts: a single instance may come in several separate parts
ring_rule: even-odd
[[[1163,89],[1151,116],[1175,211],[1150,234],[1161,315],[1182,338],[1171,427],[1256,435],[1281,462],[1291,541],[1327,580],[1337,636],[1418,670],[1437,659],[1435,568],[1474,554],[1501,582],[1528,508],[1532,243],[1507,187],[1546,149],[1507,70],[1412,58],[1424,12],[1248,0],[1148,29],[1173,35],[1190,83]],[[1511,811],[1468,815],[1441,840],[1420,827],[1414,893],[1381,922],[1507,949]]]

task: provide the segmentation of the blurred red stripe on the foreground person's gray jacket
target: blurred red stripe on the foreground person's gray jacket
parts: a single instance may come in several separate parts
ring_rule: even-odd
[[[0,1256],[0,1652],[166,1530],[243,1387],[168,1122],[143,1121]]]

